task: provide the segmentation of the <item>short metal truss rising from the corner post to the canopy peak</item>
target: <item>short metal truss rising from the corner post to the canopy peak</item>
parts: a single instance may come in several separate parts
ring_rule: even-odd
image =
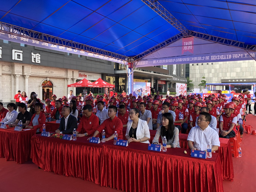
[[[157,51],[159,49],[162,49],[163,47],[166,47],[166,46],[172,44],[173,42],[175,42],[175,41],[177,41],[177,40],[179,40],[179,39],[181,39],[183,37],[184,37],[184,35],[182,33],[174,35],[173,37],[171,37],[171,38],[169,38],[169,39],[167,39],[167,40],[157,44],[156,46],[154,46],[154,47],[152,47],[152,48],[142,52],[141,54],[136,55],[135,57],[132,58],[132,62],[140,60],[143,57],[146,57],[147,55],[150,55],[151,53],[153,53],[153,52],[155,52],[155,51]]]

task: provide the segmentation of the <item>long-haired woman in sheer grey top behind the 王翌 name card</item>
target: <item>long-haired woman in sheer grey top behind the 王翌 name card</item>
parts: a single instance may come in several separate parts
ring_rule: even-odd
[[[159,137],[163,140],[164,136],[167,139],[167,148],[175,148],[179,146],[179,130],[174,126],[173,115],[171,113],[164,113],[162,116],[162,126],[160,126],[152,141],[153,144],[159,144]],[[163,145],[161,144],[161,147]]]

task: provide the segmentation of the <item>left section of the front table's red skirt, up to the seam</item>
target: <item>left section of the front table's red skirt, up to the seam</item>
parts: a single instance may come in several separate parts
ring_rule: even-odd
[[[85,137],[67,141],[34,135],[31,159],[45,171],[82,178],[100,184],[103,145],[91,144]]]

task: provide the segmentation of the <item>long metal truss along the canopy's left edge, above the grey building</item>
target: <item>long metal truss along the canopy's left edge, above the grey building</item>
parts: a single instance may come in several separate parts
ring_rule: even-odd
[[[72,40],[67,40],[67,39],[47,35],[47,34],[44,34],[44,33],[40,33],[38,31],[34,31],[34,30],[23,28],[23,27],[7,24],[7,23],[4,23],[4,22],[0,22],[0,31],[2,31],[4,33],[15,34],[17,36],[23,36],[23,37],[26,37],[26,38],[39,40],[41,42],[51,43],[51,44],[54,44],[54,45],[61,45],[61,46],[70,47],[70,48],[77,49],[77,50],[83,50],[83,51],[86,51],[86,52],[95,53],[95,54],[98,54],[98,55],[104,55],[104,56],[108,56],[108,57],[123,60],[123,61],[130,61],[131,60],[130,57],[123,56],[123,55],[120,55],[120,54],[116,54],[116,53],[111,52],[111,51],[106,51],[106,50],[103,50],[103,49],[99,49],[99,48],[96,48],[96,47],[92,47],[92,46],[89,46],[89,45],[78,43],[78,42],[75,42],[75,41],[72,41]]]

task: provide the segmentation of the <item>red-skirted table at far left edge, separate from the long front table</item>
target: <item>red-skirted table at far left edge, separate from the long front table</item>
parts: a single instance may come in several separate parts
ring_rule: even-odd
[[[30,159],[31,137],[36,129],[14,131],[14,127],[0,129],[0,158],[16,163],[25,163]]]

